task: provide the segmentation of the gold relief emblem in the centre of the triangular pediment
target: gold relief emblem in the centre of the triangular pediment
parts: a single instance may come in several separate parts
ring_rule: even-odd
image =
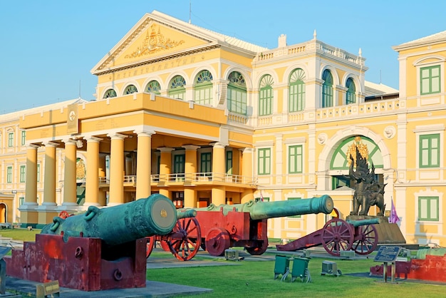
[[[185,41],[172,41],[170,38],[165,38],[165,36],[161,34],[160,26],[152,24],[152,26],[150,26],[150,29],[147,29],[147,34],[145,34],[144,42],[140,46],[138,46],[136,51],[125,55],[125,58],[137,58],[150,55],[159,51],[165,51],[170,48],[175,48],[175,46],[180,46],[180,44],[182,43],[185,43]]]

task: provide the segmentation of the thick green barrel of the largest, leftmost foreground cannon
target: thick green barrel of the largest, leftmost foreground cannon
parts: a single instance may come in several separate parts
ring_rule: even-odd
[[[177,222],[177,210],[164,195],[154,194],[123,205],[88,207],[87,212],[67,217],[54,217],[43,227],[42,234],[68,237],[95,237],[113,246],[152,235],[167,235]]]

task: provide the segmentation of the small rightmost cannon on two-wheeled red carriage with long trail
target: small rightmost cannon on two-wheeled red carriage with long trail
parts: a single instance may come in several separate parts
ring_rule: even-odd
[[[326,252],[336,257],[341,255],[341,250],[354,250],[359,255],[368,255],[378,245],[378,233],[374,226],[378,223],[378,217],[351,221],[333,218],[326,222],[321,230],[286,245],[276,245],[276,248],[281,251],[294,251],[323,245]]]

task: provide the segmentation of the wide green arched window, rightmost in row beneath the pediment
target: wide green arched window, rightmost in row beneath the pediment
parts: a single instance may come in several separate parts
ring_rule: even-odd
[[[247,115],[247,84],[242,73],[233,71],[228,76],[227,108],[230,112]]]

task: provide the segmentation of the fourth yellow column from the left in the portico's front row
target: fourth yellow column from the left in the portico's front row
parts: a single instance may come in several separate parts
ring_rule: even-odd
[[[99,203],[99,143],[102,139],[87,138],[87,171],[85,180],[85,206]]]

